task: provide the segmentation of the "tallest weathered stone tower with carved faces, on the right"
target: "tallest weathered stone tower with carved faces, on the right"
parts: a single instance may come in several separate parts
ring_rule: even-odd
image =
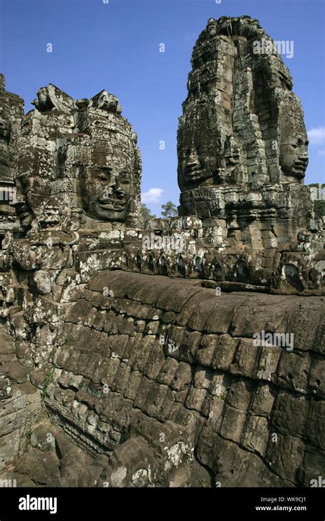
[[[258,21],[210,19],[191,58],[178,128],[180,215],[245,248],[296,239],[312,205],[306,128],[292,78]]]

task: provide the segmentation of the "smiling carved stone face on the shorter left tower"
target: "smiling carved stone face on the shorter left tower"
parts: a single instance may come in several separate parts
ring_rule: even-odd
[[[125,221],[136,199],[139,179],[135,166],[128,148],[119,151],[117,157],[108,154],[104,164],[86,169],[87,178],[82,179],[81,184],[88,217],[99,221]]]

